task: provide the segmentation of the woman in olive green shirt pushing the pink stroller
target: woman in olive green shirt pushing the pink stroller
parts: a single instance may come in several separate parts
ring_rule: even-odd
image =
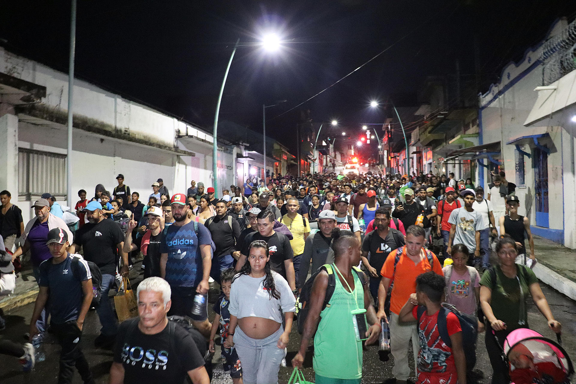
[[[492,364],[492,384],[508,384],[508,368],[501,358],[501,348],[506,336],[514,329],[529,328],[526,299],[532,296],[536,307],[548,321],[548,326],[559,333],[562,325],[550,311],[548,301],[532,269],[514,263],[518,251],[516,242],[508,236],[496,246],[499,265],[487,269],[480,279],[480,305],[486,317],[486,349]],[[497,340],[492,334],[495,331]]]

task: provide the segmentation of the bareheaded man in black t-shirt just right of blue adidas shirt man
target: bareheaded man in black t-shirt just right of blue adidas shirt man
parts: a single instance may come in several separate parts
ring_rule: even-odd
[[[212,241],[216,245],[210,276],[220,283],[220,272],[232,268],[234,263],[234,246],[240,239],[240,225],[236,219],[228,215],[228,207],[225,200],[218,200],[216,204],[216,216],[204,222],[204,226],[210,231]]]

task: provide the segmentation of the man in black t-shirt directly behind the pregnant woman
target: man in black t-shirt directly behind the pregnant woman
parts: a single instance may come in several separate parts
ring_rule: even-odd
[[[296,277],[292,258],[294,254],[290,246],[290,240],[285,234],[274,231],[274,213],[262,211],[257,218],[257,231],[250,233],[244,239],[240,258],[236,264],[236,270],[240,271],[248,258],[250,244],[254,240],[264,240],[268,244],[270,254],[270,267],[272,271],[280,273],[290,284],[290,289],[296,294]]]

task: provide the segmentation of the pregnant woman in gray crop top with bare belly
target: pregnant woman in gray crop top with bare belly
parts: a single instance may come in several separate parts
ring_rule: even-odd
[[[272,271],[268,261],[266,242],[253,241],[248,263],[234,277],[230,289],[230,324],[224,347],[236,347],[246,383],[278,383],[294,318],[295,299],[290,286]]]

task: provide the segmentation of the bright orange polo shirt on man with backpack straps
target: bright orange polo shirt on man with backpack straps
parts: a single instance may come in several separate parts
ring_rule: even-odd
[[[393,250],[388,257],[384,265],[382,265],[382,270],[380,275],[392,279],[394,276],[394,260],[396,259],[396,252],[402,248]],[[421,252],[424,252],[423,250]],[[400,255],[400,260],[396,264],[396,275],[394,276],[394,287],[392,288],[392,296],[390,298],[390,311],[395,314],[400,314],[400,310],[406,304],[410,295],[416,293],[416,277],[422,273],[434,271],[440,276],[444,276],[442,273],[442,265],[438,261],[438,258],[433,253],[433,265],[430,266],[428,258],[424,255],[423,260],[420,263],[414,264],[414,261],[410,260],[410,257],[406,254]]]

